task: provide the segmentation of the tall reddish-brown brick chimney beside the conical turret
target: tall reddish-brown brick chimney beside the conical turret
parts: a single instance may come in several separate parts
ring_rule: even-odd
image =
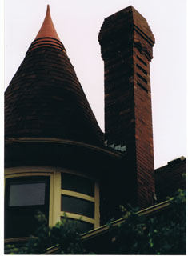
[[[106,18],[98,36],[105,66],[106,143],[126,146],[134,204],[154,203],[150,61],[154,35],[134,7]]]

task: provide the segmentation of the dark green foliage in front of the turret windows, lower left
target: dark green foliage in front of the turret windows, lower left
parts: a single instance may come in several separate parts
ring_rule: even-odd
[[[38,230],[26,244],[20,248],[9,245],[6,250],[10,254],[46,254],[47,250],[57,248],[58,254],[84,254],[82,241],[78,233],[78,222],[67,218],[66,214],[61,222],[53,227],[46,225],[44,214],[38,212]]]

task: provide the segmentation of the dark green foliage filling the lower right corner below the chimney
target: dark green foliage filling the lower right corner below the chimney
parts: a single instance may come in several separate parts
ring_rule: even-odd
[[[186,254],[186,193],[178,190],[170,207],[154,217],[122,207],[125,222],[110,228],[114,254]]]

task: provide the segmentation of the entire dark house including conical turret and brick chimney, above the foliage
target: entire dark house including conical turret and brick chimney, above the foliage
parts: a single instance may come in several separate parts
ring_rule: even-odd
[[[105,19],[98,41],[105,69],[105,133],[49,6],[6,89],[6,241],[32,234],[37,210],[49,226],[64,214],[78,219],[83,233],[121,218],[120,205],[143,210],[156,205],[158,195],[161,202],[168,195],[169,190],[158,190],[163,172],[154,171],[150,26],[129,6]],[[185,166],[185,159],[180,161]],[[173,169],[185,168],[179,170]]]

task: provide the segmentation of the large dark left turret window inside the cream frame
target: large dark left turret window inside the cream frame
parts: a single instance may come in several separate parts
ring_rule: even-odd
[[[34,234],[38,222],[35,214],[49,216],[49,177],[6,178],[5,237]]]

